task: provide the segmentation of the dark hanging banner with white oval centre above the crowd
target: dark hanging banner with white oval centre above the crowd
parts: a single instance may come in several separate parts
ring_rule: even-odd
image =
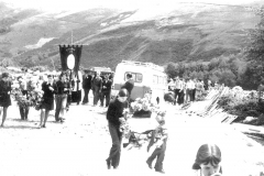
[[[73,69],[75,73],[79,70],[81,48],[82,45],[59,45],[63,70]]]

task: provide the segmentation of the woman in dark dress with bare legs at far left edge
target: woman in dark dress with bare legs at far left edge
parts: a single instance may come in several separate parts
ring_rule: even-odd
[[[3,127],[3,123],[6,121],[8,107],[11,106],[10,91],[11,91],[11,82],[9,81],[9,74],[3,73],[2,80],[0,80],[0,107],[3,107],[1,127]],[[0,116],[1,113],[2,111],[0,110]]]

